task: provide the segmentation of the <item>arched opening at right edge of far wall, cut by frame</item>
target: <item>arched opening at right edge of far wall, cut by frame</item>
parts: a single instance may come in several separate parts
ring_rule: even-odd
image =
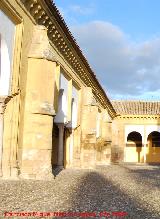
[[[160,132],[153,131],[148,135],[148,153],[146,161],[148,163],[160,162]]]

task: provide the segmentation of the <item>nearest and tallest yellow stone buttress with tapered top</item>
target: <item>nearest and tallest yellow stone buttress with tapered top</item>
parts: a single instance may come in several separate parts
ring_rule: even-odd
[[[23,144],[20,149],[22,178],[50,179],[52,129],[57,63],[44,26],[36,26],[28,55]]]

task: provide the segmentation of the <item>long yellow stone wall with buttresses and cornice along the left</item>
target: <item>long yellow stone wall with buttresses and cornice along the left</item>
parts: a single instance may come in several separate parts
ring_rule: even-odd
[[[54,6],[50,9],[57,13]],[[16,26],[11,93],[1,116],[3,177],[52,177],[60,141],[55,116],[61,74],[69,83],[64,166],[90,168],[109,162],[111,129],[105,115],[113,118],[115,111],[63,20],[50,14],[44,0],[1,0],[0,10]],[[71,125],[72,86],[78,92],[75,127]]]

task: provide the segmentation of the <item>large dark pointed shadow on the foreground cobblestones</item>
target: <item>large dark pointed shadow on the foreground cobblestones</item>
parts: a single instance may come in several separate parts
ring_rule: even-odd
[[[68,212],[96,212],[96,217],[87,218],[160,218],[157,212],[145,208],[143,203],[138,202],[135,197],[124,194],[120,187],[114,186],[96,171],[86,173],[79,181],[79,189],[72,193],[70,200],[71,208]],[[109,212],[110,216],[100,217],[100,212]],[[128,216],[112,216],[113,212],[127,212]]]

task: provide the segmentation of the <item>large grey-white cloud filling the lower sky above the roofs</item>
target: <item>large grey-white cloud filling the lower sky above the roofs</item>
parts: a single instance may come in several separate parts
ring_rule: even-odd
[[[159,37],[137,44],[103,21],[72,26],[71,31],[109,96],[159,97]]]

